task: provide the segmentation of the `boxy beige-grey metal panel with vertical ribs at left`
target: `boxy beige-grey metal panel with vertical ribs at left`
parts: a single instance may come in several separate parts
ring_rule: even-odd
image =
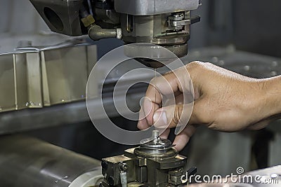
[[[0,111],[85,99],[96,58],[96,46],[81,43],[18,48],[0,55]]]

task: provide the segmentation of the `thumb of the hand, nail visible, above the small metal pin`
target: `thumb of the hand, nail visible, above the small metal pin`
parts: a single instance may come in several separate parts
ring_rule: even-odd
[[[176,104],[164,106],[155,111],[153,124],[157,128],[166,129],[177,125],[187,125],[192,113],[192,104]]]

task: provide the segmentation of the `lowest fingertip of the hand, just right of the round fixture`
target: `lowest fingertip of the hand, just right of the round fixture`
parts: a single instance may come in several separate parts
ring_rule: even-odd
[[[176,135],[176,138],[174,139],[173,143],[175,145],[176,150],[181,151],[186,146],[186,144],[188,144],[190,137],[192,137],[195,131],[195,125],[188,125],[187,127],[185,127],[185,130],[183,130],[183,132]]]

